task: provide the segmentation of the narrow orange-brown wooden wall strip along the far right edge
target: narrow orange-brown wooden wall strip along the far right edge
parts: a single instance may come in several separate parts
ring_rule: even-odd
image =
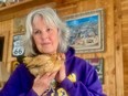
[[[121,0],[121,32],[124,49],[124,85],[125,96],[128,95],[128,0]]]

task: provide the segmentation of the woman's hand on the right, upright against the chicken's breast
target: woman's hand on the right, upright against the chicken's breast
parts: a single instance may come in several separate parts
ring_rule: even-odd
[[[65,64],[62,64],[60,71],[57,72],[55,79],[61,83],[66,77]]]

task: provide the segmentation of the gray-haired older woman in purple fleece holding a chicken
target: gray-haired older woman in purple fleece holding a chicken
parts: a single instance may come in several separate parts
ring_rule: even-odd
[[[0,96],[105,96],[95,68],[76,57],[70,31],[51,8],[28,14],[25,57]]]

